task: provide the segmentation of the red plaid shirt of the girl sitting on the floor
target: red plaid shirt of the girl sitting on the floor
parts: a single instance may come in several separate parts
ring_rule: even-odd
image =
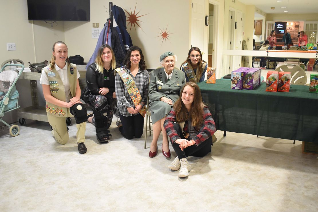
[[[196,145],[199,145],[201,142],[210,138],[216,131],[214,120],[207,106],[204,106],[203,108],[203,121],[204,121],[204,124],[202,125],[202,128],[198,132],[197,136],[190,139],[190,140],[194,140],[196,142]],[[174,122],[176,122],[176,112],[172,108],[169,114],[167,115],[166,120],[163,123],[163,127],[166,130],[172,142],[175,142],[177,139],[180,139],[180,136],[178,135],[176,129],[173,128]],[[188,129],[189,128],[190,127],[188,126]]]

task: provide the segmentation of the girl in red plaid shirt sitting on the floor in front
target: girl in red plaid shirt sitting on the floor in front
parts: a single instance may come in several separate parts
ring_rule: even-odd
[[[179,177],[187,177],[191,166],[188,156],[204,157],[211,152],[215,123],[209,108],[204,105],[199,86],[187,82],[179,99],[164,121],[164,129],[177,157],[169,164],[171,170],[179,170]]]

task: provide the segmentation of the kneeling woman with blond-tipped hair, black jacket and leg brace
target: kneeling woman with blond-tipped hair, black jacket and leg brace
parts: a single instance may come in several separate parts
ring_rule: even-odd
[[[100,143],[108,143],[109,130],[115,108],[115,75],[116,61],[112,48],[103,44],[98,50],[94,63],[86,71],[86,84],[90,95],[83,100],[93,108],[94,117],[88,119],[96,128],[96,137]]]

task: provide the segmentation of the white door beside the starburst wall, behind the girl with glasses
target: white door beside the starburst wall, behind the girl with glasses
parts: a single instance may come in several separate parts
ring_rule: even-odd
[[[204,50],[204,0],[192,0],[191,45]],[[205,55],[207,57],[207,55]]]

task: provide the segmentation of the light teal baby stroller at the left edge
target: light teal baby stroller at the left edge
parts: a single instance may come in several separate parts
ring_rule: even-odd
[[[21,67],[18,72],[12,70],[4,70],[7,66]],[[9,127],[11,136],[17,136],[20,128],[16,124],[10,125],[2,120],[4,113],[19,108],[18,99],[19,93],[16,89],[16,82],[24,70],[24,65],[20,64],[6,64],[0,71],[0,121]],[[6,129],[6,126],[0,127],[0,132]]]

